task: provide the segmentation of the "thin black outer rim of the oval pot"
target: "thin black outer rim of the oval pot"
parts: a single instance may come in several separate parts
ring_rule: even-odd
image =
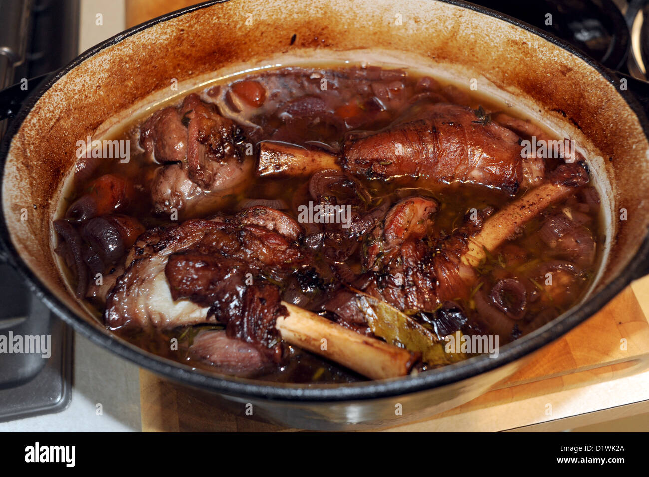
[[[141,32],[149,27],[153,27],[158,23],[168,21],[178,16],[188,14],[195,10],[207,8],[210,6],[218,5],[220,3],[227,3],[232,0],[211,0],[198,5],[192,5],[182,10],[171,12],[164,16],[151,19],[140,25],[136,25],[116,36],[95,45],[88,49],[81,55],[77,56],[69,64],[62,67],[53,75],[51,75],[43,84],[33,92],[30,97],[25,101],[21,107],[18,115],[11,120],[10,127],[8,128],[5,137],[3,138],[2,147],[0,147],[0,177],[4,178],[6,157],[12,143],[12,139],[21,127],[24,119],[29,115],[32,108],[42,97],[42,95],[49,90],[59,79],[64,77],[69,71],[77,67],[79,64],[91,58],[93,55],[103,51],[104,49],[117,45],[125,38]],[[568,51],[588,66],[592,67],[600,76],[604,77],[609,82],[617,80],[615,73],[609,71],[606,67],[594,62],[591,58],[584,55],[582,52],[577,51],[568,43],[559,40],[555,36],[548,34],[545,31],[539,30],[527,23],[523,23],[517,19],[511,18],[507,15],[489,10],[482,6],[466,3],[461,0],[435,0],[448,5],[458,6],[467,10],[473,10],[480,14],[494,17],[502,21],[506,21],[512,25],[522,28],[528,32],[540,36],[544,40],[552,43],[556,47]],[[619,93],[618,93],[619,94]],[[644,135],[649,138],[649,123],[644,116],[644,112],[631,95],[621,95],[630,106],[631,110],[637,116],[641,127],[643,128]],[[3,203],[3,193],[0,189],[0,203]],[[18,251],[16,251],[14,244],[11,241],[8,228],[6,226],[5,214],[2,214],[0,219],[0,245],[3,245],[6,250],[6,261],[10,263],[22,276],[27,286],[31,289],[36,296],[43,300],[50,310],[56,313],[58,317],[66,321],[66,323],[73,326],[73,328],[87,337],[93,343],[100,345],[112,352],[115,352],[122,358],[145,367],[154,373],[162,374],[167,378],[171,378],[184,384],[192,385],[208,391],[224,393],[227,395],[238,395],[245,397],[256,398],[269,398],[273,400],[291,400],[291,401],[309,401],[309,402],[331,402],[331,401],[346,401],[346,400],[366,400],[380,397],[391,397],[403,395],[406,393],[415,393],[417,391],[425,391],[434,387],[441,387],[443,385],[453,384],[467,378],[471,378],[478,374],[491,371],[502,365],[511,363],[518,360],[527,354],[531,354],[535,350],[545,346],[554,339],[562,336],[570,329],[574,328],[577,324],[582,323],[588,317],[591,317],[595,312],[600,310],[609,300],[611,300],[622,288],[628,285],[631,280],[640,276],[644,270],[644,262],[649,258],[649,233],[644,233],[644,239],[639,249],[635,254],[635,263],[624,270],[624,273],[616,276],[609,284],[603,289],[590,297],[587,302],[580,306],[575,306],[559,315],[550,323],[542,326],[534,332],[521,337],[502,347],[499,350],[498,357],[489,358],[486,354],[482,356],[475,356],[465,361],[447,365],[443,368],[434,371],[428,371],[418,374],[417,376],[404,376],[402,378],[394,378],[391,380],[369,381],[355,384],[345,385],[318,385],[306,387],[304,385],[295,384],[267,384],[266,382],[253,382],[246,380],[234,380],[228,376],[220,376],[199,370],[191,370],[183,365],[174,364],[173,361],[165,360],[144,350],[131,347],[110,334],[99,332],[93,324],[89,323],[76,313],[71,312],[69,308],[58,299],[51,291],[43,284],[43,282],[36,276],[27,264],[20,258]],[[556,323],[555,323],[556,322]]]

